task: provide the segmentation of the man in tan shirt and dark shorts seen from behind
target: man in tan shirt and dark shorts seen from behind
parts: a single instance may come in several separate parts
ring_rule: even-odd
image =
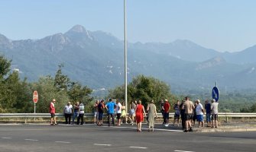
[[[190,101],[189,97],[185,97],[185,102],[183,103],[182,109],[185,109],[184,117],[185,117],[186,130],[184,132],[193,131],[192,125],[191,125],[191,118],[192,118],[192,113],[193,113],[193,109],[195,109],[195,106],[193,102]]]

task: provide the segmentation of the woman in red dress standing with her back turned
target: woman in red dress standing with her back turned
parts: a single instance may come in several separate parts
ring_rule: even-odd
[[[135,112],[136,112],[137,131],[141,132],[141,123],[143,122],[143,119],[144,119],[143,113],[146,116],[144,106],[141,105],[141,100],[138,101],[138,105],[136,106]]]

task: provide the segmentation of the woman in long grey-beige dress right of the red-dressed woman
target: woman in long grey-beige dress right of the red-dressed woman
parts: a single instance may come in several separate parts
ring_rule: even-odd
[[[151,103],[147,105],[147,116],[148,116],[148,131],[154,131],[154,116],[156,116],[157,118],[157,108],[154,105],[154,100],[151,100]]]

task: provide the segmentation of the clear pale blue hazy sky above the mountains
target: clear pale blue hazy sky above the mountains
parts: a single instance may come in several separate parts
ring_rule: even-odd
[[[220,52],[256,44],[254,0],[127,0],[129,42],[191,40]],[[0,33],[41,39],[76,24],[123,40],[123,0],[2,0]]]

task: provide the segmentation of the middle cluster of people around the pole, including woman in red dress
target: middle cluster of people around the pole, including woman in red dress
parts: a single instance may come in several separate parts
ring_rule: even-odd
[[[106,109],[108,114],[108,124],[115,125],[115,115],[117,116],[117,125],[121,125],[123,121],[128,124],[128,119],[131,125],[136,123],[137,131],[141,131],[141,125],[144,121],[144,117],[147,116],[149,122],[148,131],[154,131],[154,117],[157,117],[156,106],[154,105],[154,100],[147,106],[147,114],[145,112],[144,106],[141,104],[141,100],[133,101],[130,104],[130,110],[128,117],[126,115],[126,106],[123,102],[122,104],[118,100],[109,99],[109,102],[105,104],[105,100],[96,101],[94,104],[94,123],[102,126],[103,119],[103,109]],[[97,119],[98,118],[98,119]],[[98,120],[98,121],[97,121]]]

